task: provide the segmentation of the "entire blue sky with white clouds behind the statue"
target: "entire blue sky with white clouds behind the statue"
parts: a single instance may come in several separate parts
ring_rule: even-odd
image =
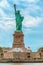
[[[0,0],[0,46],[12,47],[16,30],[14,3],[24,16],[22,30],[25,47],[43,47],[43,0]]]

